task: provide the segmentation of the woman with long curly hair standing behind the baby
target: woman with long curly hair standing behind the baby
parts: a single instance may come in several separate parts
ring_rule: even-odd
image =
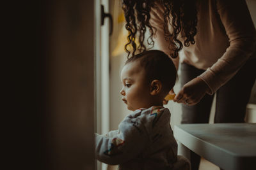
[[[215,92],[214,122],[244,122],[256,76],[256,33],[244,0],[123,0],[123,10],[129,55],[156,44],[177,69],[181,63],[173,101],[183,103],[182,124],[208,123]],[[192,169],[199,161],[191,153]]]

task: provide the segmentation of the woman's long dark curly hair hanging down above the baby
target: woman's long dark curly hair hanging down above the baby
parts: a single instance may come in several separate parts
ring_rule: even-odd
[[[195,44],[196,25],[197,25],[197,10],[196,0],[158,0],[164,7],[164,38],[169,40],[169,46],[172,58],[178,56],[178,52],[183,45],[188,47]],[[128,43],[125,45],[125,52],[131,51],[128,49],[132,46],[132,55],[138,52],[147,50],[145,46],[145,32],[148,28],[150,35],[147,38],[147,44],[154,46],[153,36],[156,34],[156,28],[150,25],[150,10],[156,6],[154,0],[123,0],[122,8],[125,15],[125,29],[129,32],[127,39]],[[168,31],[168,25],[172,25],[172,32]],[[182,43],[177,37],[181,34],[184,40]],[[137,46],[135,43],[136,35],[138,35]]]

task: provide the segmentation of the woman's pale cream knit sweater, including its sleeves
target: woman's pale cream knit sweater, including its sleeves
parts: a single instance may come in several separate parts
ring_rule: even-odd
[[[173,61],[176,66],[180,60],[205,69],[199,77],[211,89],[209,94],[213,94],[239,71],[246,60],[256,57],[256,32],[244,0],[198,0],[197,5],[196,43],[183,46],[179,59]],[[157,3],[151,10],[150,24],[157,29],[155,41],[159,50],[170,54],[169,43],[164,39],[163,14],[163,6]]]

